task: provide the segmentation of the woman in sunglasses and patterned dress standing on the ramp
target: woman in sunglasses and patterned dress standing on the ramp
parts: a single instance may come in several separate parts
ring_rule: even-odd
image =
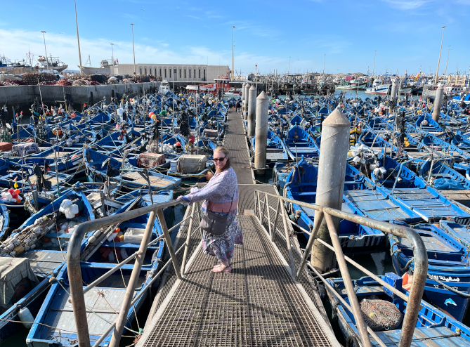
[[[230,273],[235,244],[243,244],[243,234],[238,225],[238,183],[237,175],[233,170],[228,150],[218,147],[214,150],[214,163],[216,174],[209,183],[202,188],[192,188],[190,194],[178,197],[184,202],[200,202],[204,200],[201,211],[206,214],[212,211],[219,216],[227,216],[225,233],[213,235],[202,232],[202,249],[204,254],[216,256],[218,264],[214,266],[214,273]]]

